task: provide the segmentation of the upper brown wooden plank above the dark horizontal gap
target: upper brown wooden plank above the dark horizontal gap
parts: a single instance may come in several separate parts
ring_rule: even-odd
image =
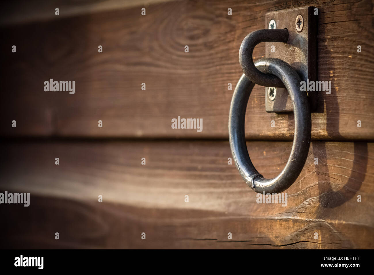
[[[319,8],[318,79],[332,82],[330,95],[318,95],[312,138],[373,140],[370,0],[173,1],[151,4],[146,16],[136,7],[2,28],[0,134],[227,138],[227,83],[234,88],[241,75],[242,39],[264,28],[266,12],[307,5]],[[264,53],[261,43],[254,58]],[[76,93],[43,91],[50,78],[76,81]],[[172,129],[178,116],[202,118],[203,131]],[[246,137],[290,140],[293,130],[293,114],[266,113],[264,88],[255,86]]]

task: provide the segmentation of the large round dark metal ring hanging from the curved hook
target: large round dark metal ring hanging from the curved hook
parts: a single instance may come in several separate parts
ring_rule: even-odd
[[[282,80],[294,106],[295,133],[291,154],[282,172],[272,179],[264,178],[253,166],[245,142],[245,111],[255,83],[245,74],[236,85],[230,106],[229,140],[233,159],[240,175],[248,186],[258,193],[280,193],[297,179],[309,152],[312,122],[305,92],[300,91],[300,77],[288,63],[278,58],[263,58],[255,66]]]

